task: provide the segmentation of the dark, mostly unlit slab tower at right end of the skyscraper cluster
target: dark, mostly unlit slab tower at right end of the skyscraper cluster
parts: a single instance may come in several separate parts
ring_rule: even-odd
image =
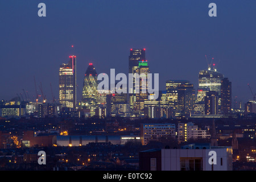
[[[221,113],[231,114],[232,109],[232,84],[228,78],[221,80]]]

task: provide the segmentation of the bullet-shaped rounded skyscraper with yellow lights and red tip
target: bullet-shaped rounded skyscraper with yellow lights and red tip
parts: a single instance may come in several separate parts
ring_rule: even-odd
[[[89,63],[84,76],[84,86],[82,88],[82,106],[90,109],[91,116],[95,115],[98,104],[98,80],[97,72],[92,63]]]

